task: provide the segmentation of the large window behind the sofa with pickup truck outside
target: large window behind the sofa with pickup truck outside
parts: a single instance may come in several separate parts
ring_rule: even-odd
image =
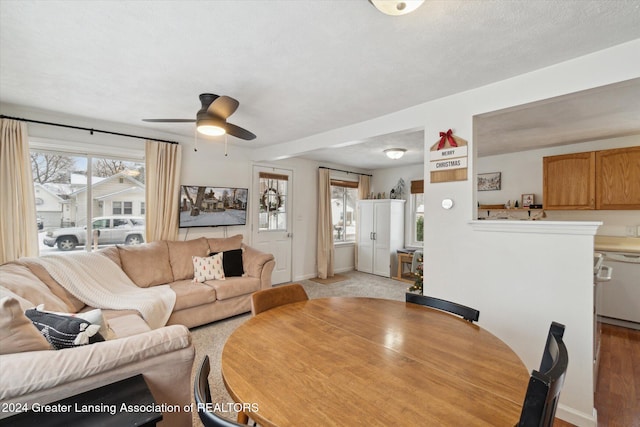
[[[47,196],[47,203],[36,205],[36,213],[57,225],[41,240],[40,253],[69,251],[76,247],[90,250],[88,246],[93,245],[85,242],[95,242],[96,236],[98,245],[125,243],[108,241],[112,236],[106,232],[93,236],[92,228],[115,228],[116,223],[111,224],[109,219],[95,219],[133,215],[134,205],[143,203],[144,161],[78,155],[75,153],[82,150],[71,146],[69,149],[74,150],[73,153],[39,149],[38,144],[36,147],[30,153],[34,185],[46,189],[46,193],[40,195]],[[121,200],[112,201],[114,196]],[[64,230],[69,227],[76,228]],[[62,241],[61,236],[66,236],[66,240]]]

